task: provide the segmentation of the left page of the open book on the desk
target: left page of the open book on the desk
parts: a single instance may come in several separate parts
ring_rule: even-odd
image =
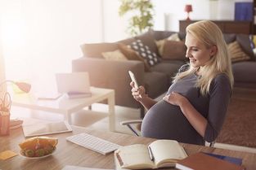
[[[121,168],[154,168],[153,161],[150,160],[147,146],[135,144],[131,146],[123,146],[116,150],[116,153],[122,160]]]

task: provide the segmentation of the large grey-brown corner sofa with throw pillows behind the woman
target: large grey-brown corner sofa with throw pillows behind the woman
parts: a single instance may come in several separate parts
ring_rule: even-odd
[[[80,46],[83,57],[72,61],[72,71],[89,72],[92,86],[115,89],[116,105],[141,108],[132,98],[128,71],[135,74],[138,84],[145,86],[146,93],[151,98],[164,94],[178,68],[187,62],[185,37],[185,33],[150,30],[121,41],[83,44]],[[235,86],[256,89],[256,62],[249,35],[224,34],[224,38],[231,45],[228,46],[231,56],[235,56],[232,62]],[[145,47],[144,50],[150,51],[150,57],[155,56],[155,61],[143,57],[144,50],[137,50],[137,46],[141,44]],[[134,58],[132,53],[129,56],[128,51],[135,51],[138,56]],[[111,59],[117,52],[119,56]],[[122,54],[128,59],[123,59]]]

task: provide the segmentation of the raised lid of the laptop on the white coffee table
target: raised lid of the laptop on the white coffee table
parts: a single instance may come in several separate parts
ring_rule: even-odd
[[[61,94],[91,93],[88,72],[56,73],[56,85]]]

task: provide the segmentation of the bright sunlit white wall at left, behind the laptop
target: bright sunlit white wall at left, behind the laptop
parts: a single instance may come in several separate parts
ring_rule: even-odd
[[[84,42],[103,41],[102,0],[0,1],[2,52],[7,78],[55,85],[55,72],[70,72]],[[1,67],[2,68],[2,67]]]

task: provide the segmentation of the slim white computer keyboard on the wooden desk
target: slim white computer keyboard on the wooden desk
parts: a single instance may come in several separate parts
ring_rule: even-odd
[[[101,139],[99,137],[94,137],[88,133],[79,133],[77,135],[66,137],[67,141],[74,142],[79,146],[86,147],[90,150],[97,151],[103,155],[106,155],[119,148],[119,145]]]

